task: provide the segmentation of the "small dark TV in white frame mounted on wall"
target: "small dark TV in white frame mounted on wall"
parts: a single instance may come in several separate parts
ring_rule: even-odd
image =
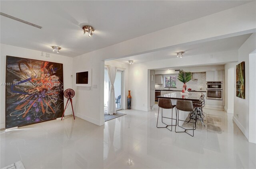
[[[92,86],[92,71],[76,72],[76,86]]]

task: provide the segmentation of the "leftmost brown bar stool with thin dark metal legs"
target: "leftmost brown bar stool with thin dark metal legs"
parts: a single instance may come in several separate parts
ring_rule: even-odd
[[[165,124],[163,122],[163,118],[168,118],[168,117],[163,117],[163,108],[164,109],[172,109],[172,111],[173,111],[173,108],[175,106],[176,105],[172,105],[171,99],[168,99],[168,98],[158,98],[158,115],[157,115],[157,122],[156,122],[156,127],[157,128],[167,128],[168,126],[176,126],[176,125],[168,125],[168,124]],[[158,127],[159,108],[162,108],[162,123],[166,125],[165,127]],[[176,112],[176,110],[175,110],[175,112]],[[174,118],[168,118],[168,119],[176,120]],[[176,122],[176,124],[177,124],[177,122]],[[168,130],[170,130],[170,129],[168,129]],[[172,131],[172,128],[171,128],[170,131]]]

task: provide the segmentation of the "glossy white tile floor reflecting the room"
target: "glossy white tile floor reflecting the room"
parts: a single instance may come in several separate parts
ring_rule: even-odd
[[[210,131],[195,136],[156,128],[157,106],[96,126],[66,117],[17,130],[1,130],[1,164],[22,160],[30,168],[256,168],[256,145],[249,143],[232,115],[208,110]]]

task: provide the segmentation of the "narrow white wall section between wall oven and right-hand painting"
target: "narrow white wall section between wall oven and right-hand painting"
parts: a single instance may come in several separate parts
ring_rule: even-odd
[[[225,64],[225,106],[224,110],[228,113],[234,113],[234,67],[236,62]]]

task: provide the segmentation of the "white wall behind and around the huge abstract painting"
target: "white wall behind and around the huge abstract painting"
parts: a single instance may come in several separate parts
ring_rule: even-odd
[[[31,49],[25,49],[22,47],[15,47],[11,45],[0,44],[0,83],[5,83],[6,74],[6,55],[24,57],[28,59],[38,59],[42,61],[51,61],[63,64],[63,74],[64,74],[64,90],[67,88],[72,88],[72,58],[56,55],[52,53],[44,53],[41,51],[35,51]],[[49,51],[51,49],[49,48]],[[61,51],[60,51],[61,52]],[[76,97],[76,96],[75,96]],[[64,103],[66,103],[66,98]],[[71,109],[68,108],[65,114],[71,114]],[[76,115],[76,112],[75,112]],[[1,128],[5,128],[5,86],[0,86],[0,123]]]

